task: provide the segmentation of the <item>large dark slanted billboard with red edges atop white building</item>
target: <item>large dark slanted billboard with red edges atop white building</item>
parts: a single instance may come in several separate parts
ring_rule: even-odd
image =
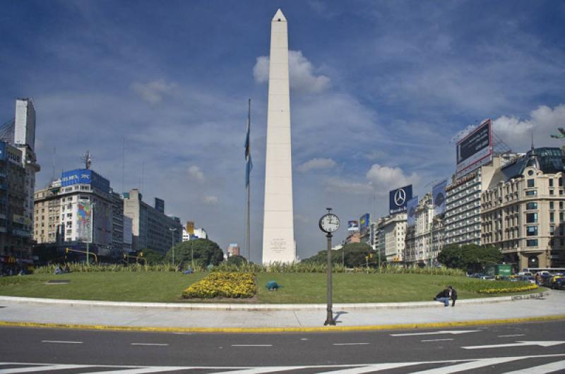
[[[463,176],[492,158],[492,122],[484,121],[457,143],[456,177]]]

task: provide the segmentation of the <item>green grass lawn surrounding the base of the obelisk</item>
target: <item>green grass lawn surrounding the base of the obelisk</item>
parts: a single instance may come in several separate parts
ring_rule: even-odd
[[[0,295],[80,300],[138,301],[176,303],[190,284],[208,275],[198,272],[71,272],[64,275],[25,275],[0,278]],[[49,280],[69,280],[68,284],[46,284]],[[266,283],[280,284],[268,291]],[[334,303],[392,303],[432,301],[449,284],[459,298],[489,297],[465,290],[468,282],[490,281],[444,275],[334,273]],[[325,273],[259,273],[256,303],[326,303]],[[468,288],[468,287],[466,287]],[[507,295],[507,294],[504,294]],[[497,294],[490,296],[500,296]],[[201,301],[196,301],[201,302]],[[206,302],[249,302],[246,299]]]

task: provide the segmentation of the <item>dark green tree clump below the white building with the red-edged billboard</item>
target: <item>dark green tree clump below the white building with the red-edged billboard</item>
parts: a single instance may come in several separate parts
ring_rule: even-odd
[[[489,263],[500,263],[502,253],[494,246],[477,246],[477,244],[448,244],[441,249],[437,256],[440,263],[447,267],[455,267],[462,270],[476,271],[482,269]]]

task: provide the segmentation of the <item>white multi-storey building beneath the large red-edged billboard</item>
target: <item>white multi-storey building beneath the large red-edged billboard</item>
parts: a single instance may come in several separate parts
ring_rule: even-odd
[[[451,185],[446,187],[445,245],[481,244],[481,193],[488,188],[494,171],[516,156],[494,155],[468,174],[453,175]]]

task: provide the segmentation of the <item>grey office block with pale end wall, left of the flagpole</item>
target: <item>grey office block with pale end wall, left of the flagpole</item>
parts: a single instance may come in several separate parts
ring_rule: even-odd
[[[138,189],[124,193],[124,216],[132,221],[132,249],[145,248],[167,253],[182,241],[182,224],[177,217],[165,215],[165,202],[155,199],[155,207],[143,202]]]

